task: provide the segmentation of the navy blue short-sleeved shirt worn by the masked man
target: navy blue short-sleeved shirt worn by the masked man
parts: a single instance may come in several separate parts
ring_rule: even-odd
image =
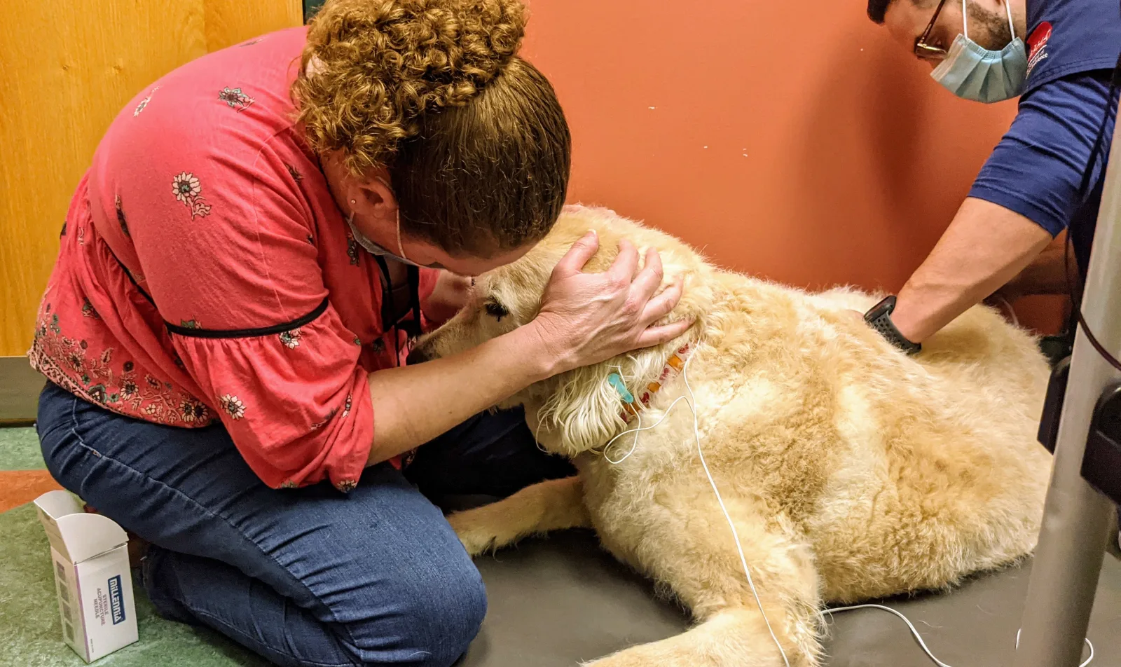
[[[1027,10],[1029,70],[1019,112],[970,196],[1019,213],[1051,235],[1073,226],[1085,270],[1117,117],[1117,100],[1106,106],[1106,96],[1121,52],[1121,2],[1028,0]],[[1104,145],[1088,196],[1080,196],[1103,113]]]

